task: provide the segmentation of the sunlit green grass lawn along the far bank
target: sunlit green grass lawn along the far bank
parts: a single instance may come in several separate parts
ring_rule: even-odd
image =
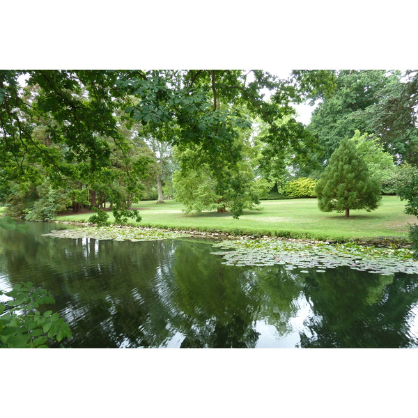
[[[155,201],[141,201],[134,208],[141,212],[139,226],[318,240],[405,240],[408,239],[408,223],[417,222],[416,217],[403,213],[405,203],[396,196],[383,196],[380,207],[373,212],[351,210],[349,218],[343,213],[320,212],[316,199],[262,201],[260,206],[262,210],[246,211],[240,219],[233,219],[229,213],[185,215],[183,205],[176,201],[166,201],[162,205],[155,204]],[[59,216],[56,220],[84,222],[90,216]]]

